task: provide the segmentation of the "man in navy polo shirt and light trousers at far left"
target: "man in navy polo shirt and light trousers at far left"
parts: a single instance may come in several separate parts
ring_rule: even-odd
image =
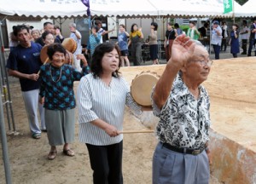
[[[38,106],[42,130],[46,129],[44,124],[44,108],[38,104],[40,85],[38,71],[42,65],[39,55],[42,46],[30,41],[29,28],[27,26],[16,26],[14,34],[20,44],[10,52],[7,68],[10,76],[20,78],[20,87],[32,138],[40,139],[41,129],[38,123]]]

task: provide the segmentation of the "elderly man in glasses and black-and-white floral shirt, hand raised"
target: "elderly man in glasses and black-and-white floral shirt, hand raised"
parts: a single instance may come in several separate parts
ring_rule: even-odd
[[[210,101],[201,83],[207,80],[211,66],[201,43],[185,35],[174,40],[172,58],[152,94],[153,112],[160,118],[154,184],[209,182]]]

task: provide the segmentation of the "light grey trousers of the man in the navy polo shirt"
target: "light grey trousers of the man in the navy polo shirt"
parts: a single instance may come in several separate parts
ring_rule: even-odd
[[[39,89],[22,91],[22,97],[26,107],[26,114],[28,118],[29,128],[34,133],[41,133],[38,123],[38,109],[41,118],[41,128],[45,129],[44,121],[44,107],[38,102]]]

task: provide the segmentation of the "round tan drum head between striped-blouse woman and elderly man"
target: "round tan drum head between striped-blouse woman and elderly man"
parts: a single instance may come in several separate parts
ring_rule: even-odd
[[[141,106],[152,106],[151,93],[154,85],[159,80],[154,72],[142,72],[131,82],[131,96]]]

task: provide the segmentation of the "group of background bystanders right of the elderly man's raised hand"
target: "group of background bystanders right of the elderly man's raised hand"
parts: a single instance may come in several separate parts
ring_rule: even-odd
[[[190,26],[192,24],[192,26]],[[190,28],[193,29],[195,22],[191,22],[189,24]],[[251,25],[248,26],[247,20],[242,20],[241,28],[238,24],[233,23],[229,28],[227,26],[227,22],[222,20],[213,20],[212,26],[210,27],[210,22],[206,22],[204,26],[198,29],[200,33],[200,38],[198,37],[198,32],[195,31],[193,34],[193,39],[200,40],[201,43],[210,47],[212,46],[214,50],[215,59],[219,59],[219,55],[221,52],[226,52],[228,46],[230,46],[230,54],[233,55],[234,58],[237,57],[238,54],[251,56],[253,48],[255,48],[255,32],[256,32],[256,19],[253,18]],[[196,30],[196,29],[195,29]],[[211,40],[206,42],[209,39],[211,34]],[[190,32],[188,32],[188,36],[190,36]],[[249,44],[249,48],[247,49],[247,44]],[[240,51],[242,49],[242,52]],[[255,49],[254,49],[255,50]],[[255,50],[256,56],[256,50]]]

